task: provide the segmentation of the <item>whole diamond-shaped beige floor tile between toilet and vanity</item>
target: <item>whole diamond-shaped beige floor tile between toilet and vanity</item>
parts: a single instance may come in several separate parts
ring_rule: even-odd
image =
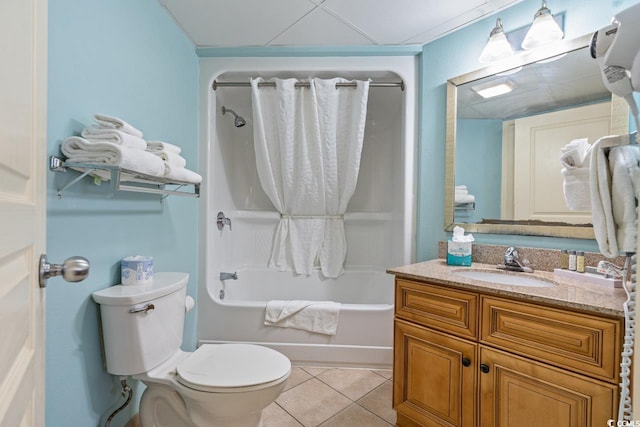
[[[351,401],[312,378],[282,393],[276,403],[305,427],[315,427],[349,406]]]

